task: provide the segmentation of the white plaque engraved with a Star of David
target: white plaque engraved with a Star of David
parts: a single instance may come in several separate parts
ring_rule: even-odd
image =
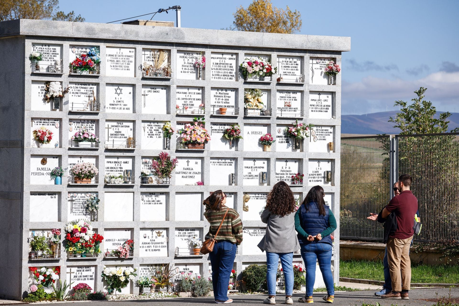
[[[134,85],[106,84],[105,111],[132,113],[134,105]]]

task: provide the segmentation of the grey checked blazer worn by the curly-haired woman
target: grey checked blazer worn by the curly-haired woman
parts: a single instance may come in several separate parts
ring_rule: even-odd
[[[295,230],[295,211],[282,217],[265,209],[261,221],[267,224],[266,234],[257,245],[262,252],[291,253],[300,249]]]

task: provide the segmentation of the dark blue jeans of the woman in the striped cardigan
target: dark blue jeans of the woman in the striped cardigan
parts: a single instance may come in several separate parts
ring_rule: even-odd
[[[228,300],[229,275],[233,269],[237,245],[229,241],[219,241],[209,253],[212,265],[213,297],[215,300]]]

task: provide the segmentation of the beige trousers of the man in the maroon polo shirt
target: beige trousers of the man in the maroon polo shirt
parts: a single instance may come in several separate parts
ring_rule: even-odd
[[[387,262],[391,273],[392,291],[409,290],[411,283],[411,261],[409,246],[413,236],[407,239],[387,240]]]

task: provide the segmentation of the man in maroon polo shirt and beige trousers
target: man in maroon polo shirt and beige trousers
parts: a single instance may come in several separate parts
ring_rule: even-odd
[[[411,176],[408,174],[402,174],[398,178],[398,188],[401,193],[393,197],[382,211],[383,218],[394,213],[397,219],[397,230],[389,235],[386,244],[392,292],[381,295],[383,299],[409,300],[408,290],[411,283],[409,246],[414,235],[414,214],[418,210],[418,199],[409,190],[411,181]]]

